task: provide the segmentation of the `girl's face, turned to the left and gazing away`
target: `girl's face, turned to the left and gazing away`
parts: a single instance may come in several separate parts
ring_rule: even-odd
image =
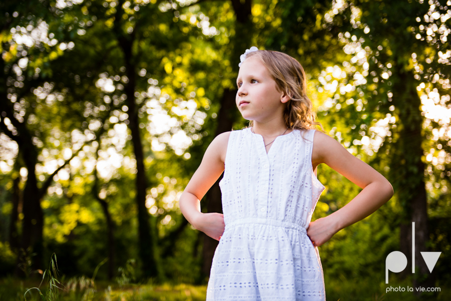
[[[277,89],[276,81],[259,58],[243,62],[237,78],[236,103],[246,120],[268,122],[283,117],[286,94]]]

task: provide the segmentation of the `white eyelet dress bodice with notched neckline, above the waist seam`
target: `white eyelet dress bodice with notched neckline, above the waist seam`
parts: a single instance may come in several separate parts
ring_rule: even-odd
[[[219,183],[226,225],[253,217],[308,227],[324,190],[312,169],[314,132],[279,136],[268,153],[250,128],[231,132]]]

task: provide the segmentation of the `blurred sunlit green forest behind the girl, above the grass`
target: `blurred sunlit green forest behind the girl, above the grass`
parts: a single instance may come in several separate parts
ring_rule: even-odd
[[[178,198],[211,140],[247,126],[235,81],[257,46],[301,62],[325,132],[395,190],[319,248],[328,299],[448,300],[450,18],[449,0],[2,1],[0,296],[53,253],[67,278],[205,285],[217,242]],[[318,178],[312,220],[360,191]],[[221,212],[217,183],[201,205]],[[385,284],[395,250],[409,264]],[[432,273],[420,251],[441,252]]]

